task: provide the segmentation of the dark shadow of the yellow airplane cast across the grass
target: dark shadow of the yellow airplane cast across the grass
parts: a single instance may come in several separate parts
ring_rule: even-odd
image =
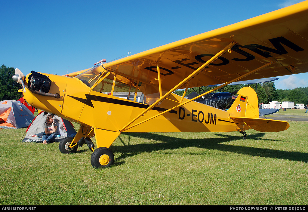
[[[115,159],[114,165],[120,165],[125,163],[123,159],[127,157],[131,157],[139,154],[140,152],[152,152],[157,150],[164,149],[179,149],[185,147],[198,147],[204,149],[212,149],[219,150],[225,152],[233,152],[243,155],[249,156],[257,156],[257,157],[268,157],[268,158],[277,158],[277,159],[285,159],[290,161],[302,161],[308,163],[308,153],[303,152],[290,152],[284,150],[276,150],[276,149],[266,149],[266,148],[257,148],[257,147],[247,147],[247,146],[237,146],[237,145],[227,145],[223,144],[228,141],[236,141],[242,140],[241,136],[230,136],[223,134],[215,134],[216,136],[220,136],[220,138],[204,138],[204,139],[185,139],[185,138],[176,138],[169,137],[165,135],[152,134],[152,133],[124,133],[128,135],[128,141],[125,138],[123,141],[121,137],[119,137],[120,141],[124,146],[113,145],[111,148],[114,152],[122,153],[121,156]],[[273,139],[264,139],[263,136],[265,133],[255,133],[250,134],[249,138],[253,140],[268,140],[268,141],[280,141]],[[149,139],[152,141],[162,141],[161,143],[143,143],[130,145],[130,140],[134,137],[140,137]],[[245,142],[245,141],[243,141]],[[192,152],[192,154],[194,154]]]

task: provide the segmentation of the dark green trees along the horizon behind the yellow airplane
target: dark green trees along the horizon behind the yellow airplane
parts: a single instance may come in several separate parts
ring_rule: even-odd
[[[12,76],[15,75],[15,68],[6,67],[2,65],[0,67],[0,101],[3,100],[18,100],[22,97],[22,93],[18,92],[22,89],[22,85],[16,83]],[[237,93],[238,90],[245,86],[250,86],[253,88],[258,96],[258,102],[263,102],[267,104],[271,101],[290,101],[295,104],[308,104],[308,87],[306,88],[295,88],[292,90],[287,89],[276,89],[274,82],[260,83],[260,84],[245,84],[245,85],[227,85],[220,89],[221,92],[229,92],[233,95]],[[197,92],[198,94],[212,90],[215,87],[203,86],[200,88],[188,88],[186,96],[192,92]],[[217,91],[217,92],[219,92]],[[176,94],[182,96],[183,90],[175,91]]]

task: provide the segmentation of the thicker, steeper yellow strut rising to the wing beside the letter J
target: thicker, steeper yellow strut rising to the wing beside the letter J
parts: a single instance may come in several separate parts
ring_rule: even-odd
[[[131,120],[128,124],[126,124],[122,129],[120,129],[120,132],[122,132],[124,129],[126,129],[130,124],[132,124],[135,120],[143,116],[146,112],[151,110],[153,107],[155,107],[157,104],[159,104],[162,100],[167,98],[174,92],[176,89],[183,86],[186,82],[188,82],[190,79],[195,77],[197,74],[199,74],[203,69],[207,66],[209,66],[211,63],[213,63],[216,59],[218,59],[221,55],[225,54],[225,52],[229,51],[235,44],[237,44],[235,41],[229,43],[228,46],[226,46],[224,49],[219,51],[216,55],[214,55],[211,59],[209,59],[206,63],[204,63],[201,67],[199,67],[196,71],[191,73],[189,76],[187,76],[184,80],[182,80],[179,84],[177,84],[174,88],[172,88],[170,91],[168,91],[164,96],[161,96],[158,100],[156,100],[155,103],[153,103],[150,107],[145,109],[142,113],[140,113],[138,116],[136,116],[133,120]]]

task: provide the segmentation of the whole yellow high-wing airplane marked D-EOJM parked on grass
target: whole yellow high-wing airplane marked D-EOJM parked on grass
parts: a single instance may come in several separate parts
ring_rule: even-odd
[[[307,72],[308,1],[66,76],[15,70],[29,105],[81,125],[59,144],[87,144],[91,165],[113,164],[109,147],[122,132],[278,132],[286,121],[260,119],[257,95],[245,87],[229,110],[194,100],[241,80]],[[193,99],[188,88],[221,84]],[[184,89],[183,96],[173,92]],[[126,92],[128,99],[114,96]],[[138,101],[138,95],[142,98]],[[96,149],[91,141],[95,136]]]

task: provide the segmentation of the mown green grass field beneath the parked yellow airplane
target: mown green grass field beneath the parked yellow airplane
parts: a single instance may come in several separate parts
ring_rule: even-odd
[[[111,146],[115,163],[107,169],[91,166],[86,146],[64,155],[59,143],[22,143],[25,130],[0,130],[0,205],[308,201],[308,122],[276,133],[248,130],[246,140],[238,132],[125,133]]]

